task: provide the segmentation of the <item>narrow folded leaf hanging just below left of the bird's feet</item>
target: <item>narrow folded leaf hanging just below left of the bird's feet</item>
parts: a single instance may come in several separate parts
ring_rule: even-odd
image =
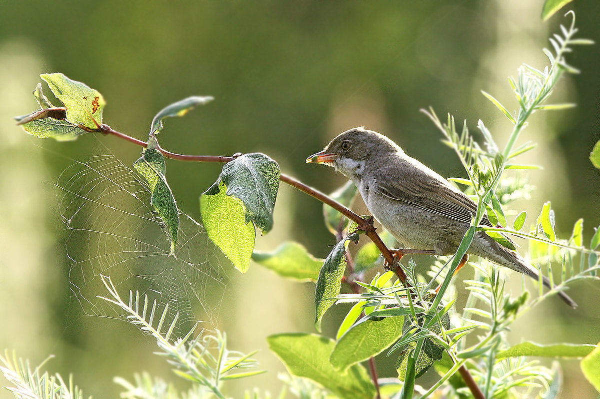
[[[346,270],[346,248],[350,240],[358,240],[358,234],[338,242],[334,249],[329,252],[325,263],[319,272],[317,287],[314,293],[314,303],[316,313],[314,316],[314,326],[321,330],[321,319],[331,306],[335,303],[335,297],[340,294],[341,278]]]

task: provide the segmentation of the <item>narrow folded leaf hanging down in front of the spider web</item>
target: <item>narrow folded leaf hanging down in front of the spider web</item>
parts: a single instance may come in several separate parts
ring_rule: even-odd
[[[177,245],[179,210],[177,209],[173,192],[167,183],[166,165],[163,154],[156,149],[157,147],[158,143],[154,138],[151,138],[148,141],[148,148],[136,160],[133,168],[142,175],[150,187],[150,192],[152,193],[150,204],[154,206],[154,209],[166,225],[167,230],[169,230],[171,254],[173,254]]]

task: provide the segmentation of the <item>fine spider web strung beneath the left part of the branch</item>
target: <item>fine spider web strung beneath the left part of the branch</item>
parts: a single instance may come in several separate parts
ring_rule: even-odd
[[[177,248],[169,255],[168,230],[150,205],[148,186],[101,147],[105,154],[72,160],[55,183],[69,232],[72,296],[86,315],[120,317],[115,306],[98,298],[106,295],[100,275],[110,276],[125,302],[128,291],[137,290],[168,305],[170,320],[178,314],[184,332],[197,320],[196,310],[214,326],[229,281],[223,254],[202,225],[180,211]]]

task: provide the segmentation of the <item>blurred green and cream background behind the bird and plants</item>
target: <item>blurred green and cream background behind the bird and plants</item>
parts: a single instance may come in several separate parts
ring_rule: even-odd
[[[598,42],[600,2],[575,0],[569,7],[577,13],[581,37]],[[463,177],[457,157],[419,109],[433,106],[439,115],[466,118],[473,132],[481,118],[502,145],[508,123],[480,90],[516,106],[506,77],[516,76],[523,62],[546,65],[541,48],[549,46],[548,35],[559,23],[570,23],[562,12],[542,22],[541,9],[541,0],[2,2],[0,348],[16,349],[34,364],[53,353],[47,368],[74,373],[85,394],[97,398],[118,396],[113,376],[131,379],[148,370],[175,379],[152,355],[153,340],[134,327],[110,318],[66,321],[67,309],[78,305],[70,296],[68,231],[52,184],[68,162],[39,146],[82,159],[78,154],[98,143],[90,136],[41,141],[14,126],[11,117],[35,109],[31,91],[40,73],[62,72],[99,90],[107,100],[105,123],[140,139],[163,106],[190,95],[214,96],[185,118],[167,121],[161,145],[188,154],[261,151],[283,171],[326,192],[343,177],[304,159],[337,133],[363,125],[440,174]],[[550,200],[559,235],[569,236],[583,217],[589,242],[592,227],[600,224],[600,171],[587,159],[600,138],[600,52],[597,46],[577,47],[569,61],[582,73],[563,79],[552,102],[578,107],[532,118],[521,142],[539,143],[526,161],[544,169],[530,174],[538,190],[516,207],[532,215]],[[125,164],[139,156],[134,145],[99,139]],[[170,161],[167,168],[180,209],[199,218],[198,196],[221,165]],[[281,188],[275,229],[257,239],[257,248],[274,248],[284,239],[298,240],[319,257],[334,244],[321,205],[290,187]],[[241,397],[254,385],[275,394],[283,367],[266,349],[265,337],[314,332],[314,285],[284,281],[256,265],[244,276],[226,268],[232,281],[220,327],[232,349],[260,349],[257,358],[269,370],[229,394]],[[472,272],[464,273],[468,278]],[[520,279],[515,281],[517,292]],[[599,293],[596,282],[576,285],[576,311],[548,300],[515,325],[511,341],[597,343]],[[326,316],[327,334],[334,333],[338,315]],[[563,397],[596,397],[577,361],[563,367]],[[382,366],[380,373],[393,376],[394,370]]]

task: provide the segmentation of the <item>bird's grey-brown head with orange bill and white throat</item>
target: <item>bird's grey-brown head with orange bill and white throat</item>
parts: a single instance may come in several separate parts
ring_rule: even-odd
[[[398,151],[402,151],[401,148],[386,136],[364,127],[355,127],[340,133],[323,151],[311,155],[306,162],[333,166],[353,178],[360,177],[366,163]]]

